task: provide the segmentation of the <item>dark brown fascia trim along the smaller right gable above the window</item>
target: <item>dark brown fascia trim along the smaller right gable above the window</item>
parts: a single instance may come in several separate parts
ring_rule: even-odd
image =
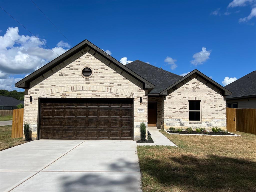
[[[202,77],[202,79],[206,80],[207,82],[209,82],[210,84],[212,84],[213,86],[217,87],[218,89],[222,90],[223,95],[232,95],[232,92],[230,92],[229,90],[227,90],[226,88],[224,88],[223,86],[221,86],[219,83],[215,82],[214,80],[212,80],[211,78],[207,77],[205,74],[201,73],[200,71],[198,71],[197,69],[191,71],[190,73],[188,73],[187,75],[185,75],[182,79],[178,80],[176,83],[172,84],[170,87],[166,88],[165,90],[161,91],[159,94],[160,95],[164,95],[166,94],[166,92],[168,90],[170,90],[171,88],[173,88],[174,86],[176,86],[177,84],[179,84],[180,82],[184,81],[186,78],[188,78],[189,76],[193,75],[193,74],[197,74],[198,76]]]

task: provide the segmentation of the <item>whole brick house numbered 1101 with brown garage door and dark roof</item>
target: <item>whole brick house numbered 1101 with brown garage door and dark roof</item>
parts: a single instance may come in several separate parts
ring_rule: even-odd
[[[15,84],[37,139],[140,139],[146,126],[226,129],[231,92],[198,70],[185,77],[127,65],[84,40]]]

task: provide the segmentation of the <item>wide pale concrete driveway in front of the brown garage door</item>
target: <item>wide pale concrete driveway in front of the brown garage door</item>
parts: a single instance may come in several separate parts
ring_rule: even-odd
[[[142,191],[136,142],[37,140],[3,150],[0,191]]]

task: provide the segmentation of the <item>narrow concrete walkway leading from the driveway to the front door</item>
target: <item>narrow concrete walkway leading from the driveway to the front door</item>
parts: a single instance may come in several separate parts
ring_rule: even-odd
[[[148,127],[147,129],[155,143],[137,143],[137,145],[168,145],[177,147],[177,145],[175,145],[166,136],[160,133],[159,129],[156,127]]]

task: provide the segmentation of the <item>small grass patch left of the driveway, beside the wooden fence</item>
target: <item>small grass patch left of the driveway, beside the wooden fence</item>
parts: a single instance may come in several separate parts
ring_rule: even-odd
[[[25,140],[20,138],[11,138],[12,125],[0,126],[0,151],[26,143]]]

